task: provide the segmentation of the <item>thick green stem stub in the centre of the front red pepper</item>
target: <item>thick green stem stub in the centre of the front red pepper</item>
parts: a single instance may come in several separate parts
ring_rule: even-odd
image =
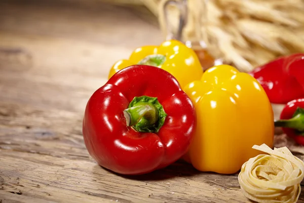
[[[150,103],[137,103],[137,106],[124,110],[124,116],[128,126],[138,125],[147,127],[158,121],[158,110]]]

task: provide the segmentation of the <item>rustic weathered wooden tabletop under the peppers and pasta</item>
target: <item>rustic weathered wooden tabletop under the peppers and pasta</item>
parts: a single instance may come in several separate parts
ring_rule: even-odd
[[[163,40],[143,13],[94,1],[1,1],[0,202],[249,202],[237,174],[177,162],[130,178],[89,156],[88,98],[116,60]]]

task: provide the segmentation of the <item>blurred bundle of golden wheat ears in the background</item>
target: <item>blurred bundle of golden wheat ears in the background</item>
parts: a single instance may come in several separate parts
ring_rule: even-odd
[[[202,0],[203,1],[203,0]],[[160,19],[166,33],[161,7],[163,0],[142,0]],[[197,1],[188,0],[188,22],[184,35],[192,38],[198,18]],[[303,0],[209,0],[207,24],[201,29],[209,40],[210,54],[222,57],[240,71],[251,71],[281,55],[304,52]],[[170,20],[179,13],[172,7]],[[173,23],[177,26],[178,23]],[[204,29],[206,28],[206,29]],[[212,45],[212,46],[211,46]]]

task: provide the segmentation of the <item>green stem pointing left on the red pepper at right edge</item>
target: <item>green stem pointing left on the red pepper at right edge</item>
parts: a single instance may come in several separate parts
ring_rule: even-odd
[[[277,120],[275,126],[294,128],[298,132],[304,131],[304,109],[297,108],[292,118]]]

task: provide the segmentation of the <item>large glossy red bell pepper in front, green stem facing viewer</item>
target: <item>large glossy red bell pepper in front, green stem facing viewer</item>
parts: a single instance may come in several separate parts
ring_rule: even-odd
[[[196,111],[177,80],[149,65],[132,65],[96,90],[83,136],[90,155],[109,170],[139,175],[178,160],[196,129]]]

